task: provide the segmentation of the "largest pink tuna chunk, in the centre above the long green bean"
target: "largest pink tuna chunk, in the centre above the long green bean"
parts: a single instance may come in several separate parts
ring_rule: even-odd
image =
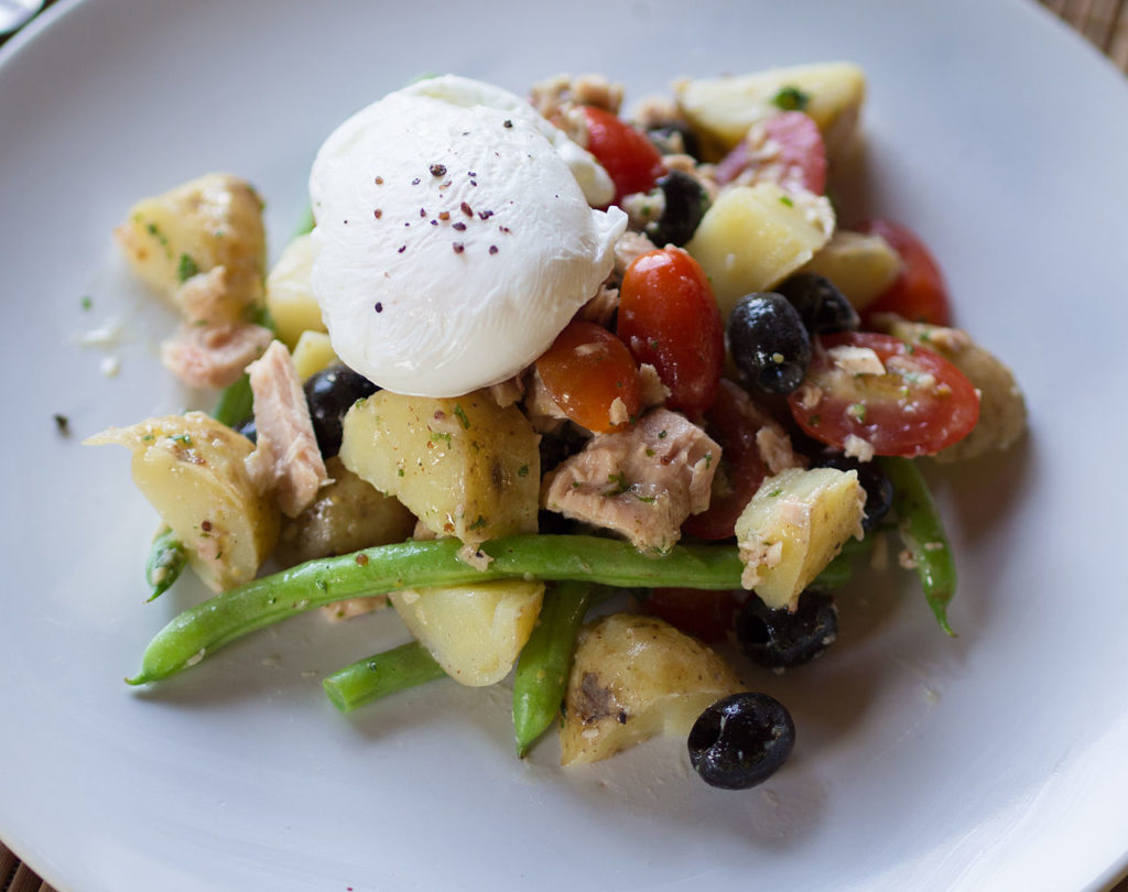
[[[598,434],[545,478],[541,503],[622,533],[641,551],[668,551],[690,514],[708,507],[721,447],[656,408],[627,431]]]

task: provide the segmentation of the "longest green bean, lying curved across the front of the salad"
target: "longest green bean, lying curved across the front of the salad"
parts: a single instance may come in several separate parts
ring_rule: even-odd
[[[149,643],[131,685],[168,678],[224,644],[315,607],[397,589],[531,577],[615,586],[737,589],[742,565],[731,546],[676,546],[662,557],[593,536],[513,536],[487,542],[486,569],[458,557],[457,539],[396,542],[309,560],[217,594],[175,617]]]

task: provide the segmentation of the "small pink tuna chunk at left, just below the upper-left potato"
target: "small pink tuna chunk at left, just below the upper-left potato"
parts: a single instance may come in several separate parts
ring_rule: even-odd
[[[160,345],[160,361],[188,387],[227,387],[273,337],[261,325],[183,324],[175,337]]]

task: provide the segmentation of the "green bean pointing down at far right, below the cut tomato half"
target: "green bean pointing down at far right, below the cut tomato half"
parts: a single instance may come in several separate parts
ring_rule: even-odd
[[[948,606],[955,594],[955,559],[928,484],[911,459],[885,457],[879,461],[893,484],[897,530],[916,565],[925,600],[940,627],[954,636],[948,624]]]

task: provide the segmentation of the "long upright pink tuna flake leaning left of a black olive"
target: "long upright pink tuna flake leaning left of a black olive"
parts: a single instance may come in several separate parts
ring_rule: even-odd
[[[285,346],[274,341],[247,369],[255,396],[255,451],[247,471],[261,493],[274,491],[279,507],[297,518],[329,482],[317,448],[301,380]]]

